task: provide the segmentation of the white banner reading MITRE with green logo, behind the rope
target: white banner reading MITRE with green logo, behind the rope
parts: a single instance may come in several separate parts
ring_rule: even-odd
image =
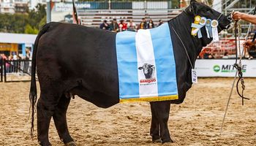
[[[235,77],[235,59],[197,59],[197,77]],[[256,77],[256,60],[242,60],[243,77]]]

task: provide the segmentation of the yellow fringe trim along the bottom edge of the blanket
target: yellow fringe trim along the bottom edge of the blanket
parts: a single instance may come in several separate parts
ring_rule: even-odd
[[[120,99],[120,103],[127,102],[138,102],[138,101],[167,101],[178,99],[178,95],[172,96],[154,96],[154,97],[141,97],[141,98],[132,98],[132,99]]]

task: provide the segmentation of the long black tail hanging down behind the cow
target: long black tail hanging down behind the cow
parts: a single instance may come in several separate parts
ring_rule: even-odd
[[[45,26],[42,27],[41,31],[39,31],[39,34],[37,35],[37,39],[34,42],[34,50],[32,55],[32,64],[31,64],[31,84],[30,84],[30,91],[29,91],[29,100],[30,100],[30,112],[31,114],[31,137],[34,137],[34,112],[37,102],[37,82],[36,82],[36,54],[37,54],[37,45],[39,42],[40,37],[42,34],[45,34],[45,32],[50,27],[49,24],[45,24]]]

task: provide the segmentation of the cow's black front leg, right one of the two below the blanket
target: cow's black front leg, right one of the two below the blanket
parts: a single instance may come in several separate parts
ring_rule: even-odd
[[[154,121],[157,121],[159,123],[158,132],[160,134],[162,143],[173,142],[173,140],[170,139],[170,134],[167,126],[169,113],[170,113],[170,101],[157,101],[157,102],[151,102],[150,104],[151,104],[151,110],[154,111],[155,118],[157,118],[157,120],[154,120]],[[152,122],[153,122],[153,119],[152,119]],[[154,126],[156,128],[154,128]],[[152,125],[151,125],[151,128],[152,128]],[[153,124],[152,131],[154,131],[154,134],[157,134],[157,124]],[[154,136],[156,137],[156,135]]]

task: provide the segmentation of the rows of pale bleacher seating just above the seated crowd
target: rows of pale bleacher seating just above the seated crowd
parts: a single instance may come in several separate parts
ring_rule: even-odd
[[[137,25],[142,18],[152,19],[155,25],[159,20],[167,22],[181,13],[181,9],[78,9],[78,16],[83,26],[99,27],[103,20],[110,23],[113,18],[132,19]]]

